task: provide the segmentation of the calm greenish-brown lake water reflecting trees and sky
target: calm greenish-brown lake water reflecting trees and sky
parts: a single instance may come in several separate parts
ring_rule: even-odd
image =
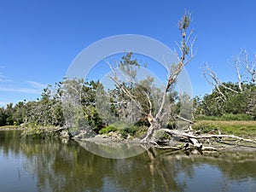
[[[149,148],[109,159],[83,143],[19,136],[0,131],[1,192],[256,191],[256,153],[184,155]]]

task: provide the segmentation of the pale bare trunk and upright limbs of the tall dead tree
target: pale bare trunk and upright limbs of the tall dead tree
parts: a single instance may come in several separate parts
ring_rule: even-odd
[[[188,32],[190,21],[191,21],[191,14],[185,13],[182,19],[178,22],[179,30],[182,37],[181,43],[177,44],[177,47],[180,50],[180,53],[178,54],[177,51],[175,50],[175,54],[177,55],[176,64],[174,65],[172,64],[172,66],[169,66],[169,67],[166,65],[167,81],[166,81],[165,88],[162,90],[162,96],[160,96],[160,104],[158,106],[159,108],[156,109],[157,111],[154,111],[153,113],[153,103],[151,102],[151,99],[149,96],[150,93],[147,91],[144,91],[141,93],[143,94],[143,96],[145,96],[145,99],[148,102],[149,111],[147,114],[144,114],[144,115],[148,117],[148,122],[150,124],[150,126],[148,127],[146,137],[142,139],[143,143],[148,143],[151,141],[154,142],[154,131],[159,130],[161,128],[160,121],[162,121],[162,119],[164,119],[166,115],[173,114],[170,111],[166,112],[166,103],[169,102],[167,101],[168,92],[172,90],[172,85],[176,83],[177,76],[179,75],[179,73],[183,71],[183,67],[185,67],[189,63],[189,61],[191,61],[194,58],[194,55],[196,52],[193,50],[193,45],[195,43],[195,38],[192,38],[193,30]],[[106,62],[108,64],[108,67],[110,67],[110,69],[112,70],[113,76],[110,79],[113,80],[113,83],[116,84],[116,86],[119,87],[119,89],[122,90],[123,93],[126,96],[128,96],[132,102],[135,103],[139,112],[145,113],[143,111],[142,106],[137,101],[136,96],[134,96],[132,92],[129,89],[127,89],[127,87],[124,85],[124,79],[126,82],[131,83],[132,82],[131,79],[135,78],[136,73],[128,74],[127,76],[124,70],[126,65],[122,66],[122,63],[121,63],[121,67],[123,68],[120,68],[120,65],[116,62],[110,62],[110,61],[106,61]],[[137,67],[137,63],[135,66],[133,62],[131,63],[132,63],[131,67]],[[120,68],[120,70],[117,71],[118,70],[117,68]]]

